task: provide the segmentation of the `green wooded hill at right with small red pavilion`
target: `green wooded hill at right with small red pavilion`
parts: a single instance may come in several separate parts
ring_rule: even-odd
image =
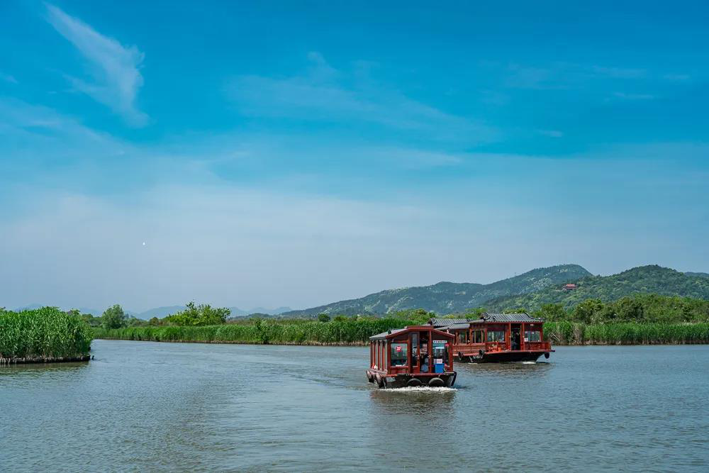
[[[703,273],[699,273],[703,274]],[[517,296],[502,296],[487,301],[489,311],[524,308],[535,311],[542,304],[563,304],[569,308],[585,299],[617,301],[633,294],[659,294],[709,299],[709,279],[657,265],[640,266],[611,276],[586,276],[573,281],[578,289],[564,291],[562,284]]]

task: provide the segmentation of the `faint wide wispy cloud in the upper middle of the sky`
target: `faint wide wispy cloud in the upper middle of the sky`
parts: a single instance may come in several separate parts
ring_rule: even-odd
[[[306,121],[357,121],[424,133],[426,138],[494,140],[497,131],[474,118],[457,116],[375,83],[367,65],[336,69],[318,52],[308,55],[304,74],[276,78],[249,75],[228,86],[242,113]]]

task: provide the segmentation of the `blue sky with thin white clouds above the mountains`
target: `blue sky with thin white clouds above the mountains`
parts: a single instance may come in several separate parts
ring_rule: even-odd
[[[681,1],[3,2],[0,306],[709,271],[708,20]]]

